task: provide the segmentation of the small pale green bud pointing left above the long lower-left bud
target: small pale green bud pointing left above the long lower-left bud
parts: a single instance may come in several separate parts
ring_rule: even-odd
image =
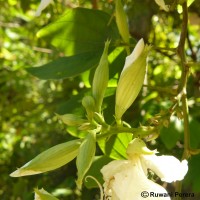
[[[80,126],[85,123],[86,120],[74,114],[57,115],[59,119],[63,121],[64,124],[68,126]]]

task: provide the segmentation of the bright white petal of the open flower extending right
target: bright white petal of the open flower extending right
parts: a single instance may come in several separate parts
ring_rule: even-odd
[[[180,162],[174,156],[143,155],[141,159],[147,168],[168,183],[183,180],[188,171],[187,160]]]

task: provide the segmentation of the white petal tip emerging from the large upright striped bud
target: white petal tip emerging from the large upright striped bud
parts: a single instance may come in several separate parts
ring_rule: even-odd
[[[126,62],[125,62],[123,71],[127,67],[129,67],[140,56],[143,50],[144,50],[144,40],[140,39],[138,43],[136,44],[133,52],[129,56],[126,57]]]

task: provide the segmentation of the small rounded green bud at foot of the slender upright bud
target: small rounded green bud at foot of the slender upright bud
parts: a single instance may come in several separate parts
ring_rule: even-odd
[[[82,99],[82,105],[87,112],[88,120],[92,120],[95,112],[95,100],[92,96],[85,96]]]

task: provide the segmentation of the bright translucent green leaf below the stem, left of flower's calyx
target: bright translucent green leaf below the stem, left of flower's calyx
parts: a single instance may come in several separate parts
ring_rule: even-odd
[[[98,141],[98,144],[105,155],[120,160],[127,158],[126,149],[131,140],[132,134],[120,133],[112,136],[107,141],[105,141],[105,139],[100,140]]]

